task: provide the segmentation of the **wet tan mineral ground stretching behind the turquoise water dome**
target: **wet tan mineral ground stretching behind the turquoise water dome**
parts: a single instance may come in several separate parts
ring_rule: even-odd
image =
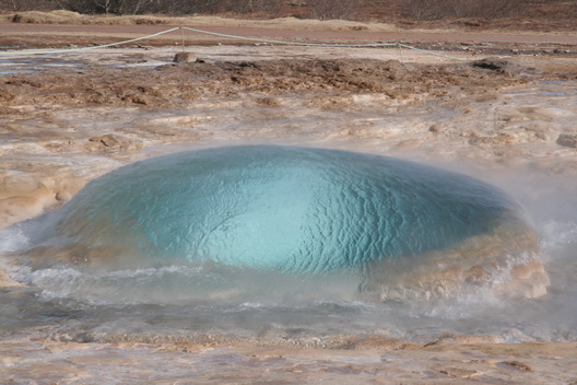
[[[172,48],[4,58],[2,196],[10,200],[2,210],[11,214],[3,223],[58,203],[125,162],[178,147],[276,141],[491,167],[575,167],[570,58],[454,60],[407,49],[268,46],[187,51],[197,60],[173,63]],[[35,182],[21,180],[31,175]]]

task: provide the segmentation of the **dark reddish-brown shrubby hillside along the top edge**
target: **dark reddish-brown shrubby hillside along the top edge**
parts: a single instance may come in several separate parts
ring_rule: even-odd
[[[417,26],[424,27],[427,23],[460,23],[468,27],[483,27],[487,22],[504,19],[540,21],[532,27],[523,27],[529,30],[547,30],[551,27],[546,25],[577,21],[577,0],[0,0],[2,12],[51,10],[83,14],[342,19],[401,26],[417,23]],[[562,28],[575,30],[577,22]]]

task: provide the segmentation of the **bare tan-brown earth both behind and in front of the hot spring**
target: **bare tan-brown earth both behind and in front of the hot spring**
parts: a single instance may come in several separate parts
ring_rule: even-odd
[[[5,24],[0,45],[109,43],[158,31],[102,26],[56,34],[42,25],[10,30],[14,25]],[[350,31],[337,36],[334,31],[307,35],[281,30],[254,34],[286,36],[293,31],[299,39],[369,38]],[[174,48],[176,36],[154,44]],[[186,46],[197,44],[190,49],[201,60],[180,65],[170,63],[175,49],[149,48],[149,43],[85,56],[2,56],[9,66],[2,68],[8,73],[0,74],[0,228],[58,207],[87,180],[134,160],[247,142],[469,162],[485,167],[482,176],[497,180],[499,173],[508,178],[530,170],[558,177],[567,194],[577,194],[572,183],[577,175],[575,45],[552,43],[556,35],[539,34],[545,40],[518,42],[533,37],[497,34],[513,44],[488,46],[431,36],[419,32],[412,38],[440,39],[420,44],[454,50],[451,56],[459,60],[397,48],[209,47],[213,38],[191,37]],[[501,58],[486,58],[485,52]],[[28,73],[31,66],[39,67]],[[0,284],[10,287],[5,292],[20,290],[1,271]],[[39,330],[35,336],[2,337],[0,380],[577,383],[575,343],[495,342],[502,341],[451,335],[426,345],[354,336],[332,350],[257,342],[76,343],[50,340]],[[173,371],[166,370],[166,362]],[[190,375],[191,368],[199,372]],[[215,368],[222,370],[215,373]]]

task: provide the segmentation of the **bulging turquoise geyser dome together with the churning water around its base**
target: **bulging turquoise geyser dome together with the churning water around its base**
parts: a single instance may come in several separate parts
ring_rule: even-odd
[[[542,295],[549,283],[532,225],[499,189],[323,149],[137,162],[2,235],[19,255],[12,278],[32,288],[2,294],[4,331],[48,325],[81,340],[323,337],[330,346],[384,330],[530,339],[510,331],[518,312],[507,312],[507,296]]]

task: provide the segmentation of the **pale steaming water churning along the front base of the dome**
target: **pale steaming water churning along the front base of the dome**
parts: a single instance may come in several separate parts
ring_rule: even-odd
[[[0,325],[2,332],[42,326],[55,338],[78,341],[203,341],[210,336],[303,346],[316,339],[317,347],[330,347],[344,335],[426,341],[444,332],[495,335],[505,342],[575,341],[577,287],[572,271],[577,268],[577,225],[549,222],[544,228],[550,231],[543,240],[550,255],[547,270],[554,279],[550,293],[539,301],[503,299],[488,284],[440,301],[367,303],[345,295],[354,282],[340,293],[319,293],[323,284],[313,281],[293,290],[301,292],[297,299],[288,282],[279,280],[282,276],[254,282],[255,290],[268,290],[259,301],[226,291],[254,277],[237,277],[233,285],[207,291],[207,282],[191,283],[195,278],[207,279],[203,271],[186,265],[102,271],[55,262],[37,269],[9,267],[12,278],[35,289],[2,294]],[[332,283],[334,288],[337,282]],[[275,289],[286,296],[273,295]]]

